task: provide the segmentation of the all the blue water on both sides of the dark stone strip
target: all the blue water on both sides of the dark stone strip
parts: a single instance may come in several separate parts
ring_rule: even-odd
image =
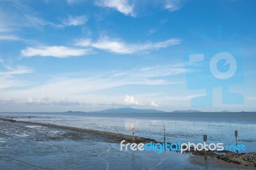
[[[196,113],[97,113],[16,112],[0,113],[17,121],[53,123],[89,128],[169,143],[244,144],[255,150],[255,112]],[[109,142],[110,140],[110,142]],[[64,128],[0,120],[0,169],[253,169],[217,158],[180,154],[175,151],[120,150],[120,143],[100,135]]]

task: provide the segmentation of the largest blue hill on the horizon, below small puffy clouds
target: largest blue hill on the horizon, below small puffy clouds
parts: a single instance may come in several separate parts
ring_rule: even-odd
[[[164,111],[157,111],[155,109],[134,109],[131,107],[122,107],[118,109],[107,109],[103,111],[97,111],[100,113],[159,113]]]

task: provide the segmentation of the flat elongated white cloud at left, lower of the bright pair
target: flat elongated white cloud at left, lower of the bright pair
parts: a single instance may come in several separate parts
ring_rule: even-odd
[[[33,57],[33,56],[52,56],[56,58],[68,58],[70,56],[83,56],[87,54],[88,50],[85,49],[74,49],[64,46],[50,46],[50,47],[26,47],[21,50],[22,56]]]

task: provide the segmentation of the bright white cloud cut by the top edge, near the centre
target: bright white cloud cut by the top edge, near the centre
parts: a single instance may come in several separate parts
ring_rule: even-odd
[[[96,4],[102,7],[115,8],[118,12],[124,13],[124,15],[136,16],[134,13],[134,5],[129,4],[127,0],[99,0]]]

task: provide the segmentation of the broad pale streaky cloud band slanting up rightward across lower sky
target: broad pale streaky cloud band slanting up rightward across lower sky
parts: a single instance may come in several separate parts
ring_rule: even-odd
[[[93,73],[92,76],[77,78],[74,73],[72,74],[72,77],[55,75],[55,78],[52,78],[50,81],[45,82],[40,86],[35,86],[29,89],[8,91],[5,95],[2,94],[2,97],[16,95],[28,98],[28,95],[29,97],[35,97],[35,95],[38,96],[44,93],[50,98],[68,98],[68,100],[73,100],[77,99],[77,96],[84,93],[93,93],[93,91],[102,91],[104,89],[116,88],[118,86],[157,86],[177,83],[162,79],[162,76],[167,76],[167,73],[163,72],[163,70],[167,69],[161,69],[161,66],[152,67],[154,70],[148,68],[132,69],[131,71],[126,72],[116,70],[115,72],[99,74]],[[146,70],[150,71],[147,72]],[[160,72],[162,72],[162,74]],[[147,73],[150,73],[150,75],[147,75]],[[169,72],[169,75],[172,75],[172,72]],[[83,100],[83,97],[81,100]]]

